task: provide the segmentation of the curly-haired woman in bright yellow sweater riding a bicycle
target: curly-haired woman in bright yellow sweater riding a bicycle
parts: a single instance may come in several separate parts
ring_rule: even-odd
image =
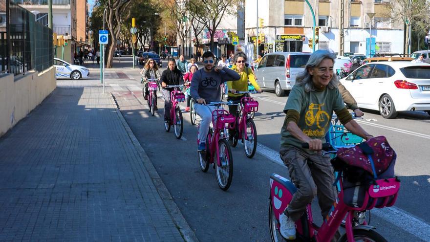
[[[234,56],[234,62],[236,63],[233,66],[233,70],[236,71],[240,75],[240,80],[236,82],[227,82],[227,87],[229,89],[227,101],[240,101],[245,94],[237,94],[237,91],[248,91],[248,80],[252,86],[258,91],[261,92],[261,88],[258,86],[254,72],[250,67],[245,66],[246,55],[242,51],[239,51]],[[233,115],[237,114],[237,105],[229,105],[229,112]],[[234,129],[229,130],[229,140],[233,139]]]

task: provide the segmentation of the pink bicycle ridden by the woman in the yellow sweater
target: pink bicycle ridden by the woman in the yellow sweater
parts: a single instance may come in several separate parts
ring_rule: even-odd
[[[256,93],[256,91],[238,91],[238,94]],[[237,105],[237,115],[234,123],[229,125],[230,130],[234,130],[231,146],[236,147],[238,140],[242,140],[245,154],[252,158],[257,150],[257,128],[252,119],[251,113],[258,111],[258,102],[252,97],[242,97]]]

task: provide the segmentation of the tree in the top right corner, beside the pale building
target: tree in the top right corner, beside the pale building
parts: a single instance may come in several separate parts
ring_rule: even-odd
[[[425,33],[429,26],[429,9],[430,2],[428,0],[394,0],[394,2],[387,4],[388,18],[391,18],[392,22],[401,22],[406,24],[406,40],[405,49],[408,52],[409,41],[409,29],[412,29],[416,33]]]

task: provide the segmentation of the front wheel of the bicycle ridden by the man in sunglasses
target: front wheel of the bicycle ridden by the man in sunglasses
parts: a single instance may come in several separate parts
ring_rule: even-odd
[[[230,149],[230,146],[225,139],[218,140],[218,151],[219,151],[219,160],[221,162],[221,166],[216,164],[216,153],[214,162],[215,162],[215,173],[216,180],[218,181],[218,186],[227,191],[227,189],[232,184],[233,178],[233,155]]]

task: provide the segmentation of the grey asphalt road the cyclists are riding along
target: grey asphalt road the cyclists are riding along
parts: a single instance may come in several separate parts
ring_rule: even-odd
[[[166,64],[163,62],[163,66]],[[91,76],[98,78],[98,73],[92,72]],[[172,131],[164,130],[162,99],[158,99],[159,110],[151,117],[139,92],[138,70],[127,71],[127,76],[130,80],[107,82],[107,85],[122,88],[114,93],[117,101],[120,100],[120,110],[197,238],[200,241],[270,241],[269,177],[272,173],[288,176],[278,154],[284,121],[282,110],[287,97],[277,97],[270,91],[254,96],[260,104],[254,119],[258,151],[249,159],[240,144],[232,148],[233,182],[224,192],[218,188],[214,169],[207,173],[199,169],[197,129],[191,125],[189,113],[183,113],[184,135],[177,140]],[[121,101],[124,95],[127,98]],[[424,112],[408,112],[388,120],[378,112],[365,110],[364,119],[358,122],[367,132],[387,137],[397,152],[395,171],[402,181],[395,207],[372,210],[370,224],[390,242],[430,241],[427,151],[430,116]],[[318,206],[313,208],[314,219],[321,223]]]

